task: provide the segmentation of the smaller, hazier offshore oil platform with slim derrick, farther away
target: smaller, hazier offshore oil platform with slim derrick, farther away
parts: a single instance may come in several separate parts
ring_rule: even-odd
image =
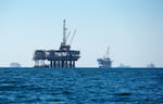
[[[109,51],[110,48],[108,48],[106,54],[103,56],[103,58],[98,58],[98,64],[100,68],[111,68],[112,67],[112,62],[111,58],[109,57]]]

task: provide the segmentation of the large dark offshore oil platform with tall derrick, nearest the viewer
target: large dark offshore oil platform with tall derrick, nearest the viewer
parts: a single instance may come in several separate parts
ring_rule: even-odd
[[[33,60],[34,67],[75,67],[75,62],[80,57],[80,51],[71,50],[71,44],[66,44],[70,32],[66,32],[65,20],[63,21],[63,41],[59,50],[36,50]],[[75,31],[76,32],[76,31]],[[75,35],[74,32],[74,35]],[[72,40],[74,38],[72,37]],[[48,61],[49,64],[46,64]]]

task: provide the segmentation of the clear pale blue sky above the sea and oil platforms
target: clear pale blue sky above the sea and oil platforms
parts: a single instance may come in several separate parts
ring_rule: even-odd
[[[63,20],[77,30],[78,67],[98,67],[108,47],[113,67],[163,67],[163,0],[0,0],[0,67],[59,49]]]

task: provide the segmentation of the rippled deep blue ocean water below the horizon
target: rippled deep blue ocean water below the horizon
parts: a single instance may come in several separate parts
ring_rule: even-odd
[[[163,104],[163,69],[0,68],[0,104]]]

